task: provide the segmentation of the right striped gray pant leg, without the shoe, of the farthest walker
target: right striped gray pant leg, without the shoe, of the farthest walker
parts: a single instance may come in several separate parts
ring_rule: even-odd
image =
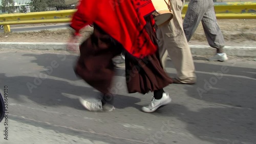
[[[216,49],[224,47],[225,40],[217,23],[213,2],[209,2],[209,8],[202,18],[202,24],[209,45]]]

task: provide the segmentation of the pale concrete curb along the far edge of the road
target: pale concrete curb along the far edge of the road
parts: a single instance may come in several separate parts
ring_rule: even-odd
[[[55,50],[66,51],[67,43],[55,42],[0,42],[0,49],[17,50]],[[78,46],[78,44],[75,44]],[[213,55],[215,49],[208,45],[189,45],[193,55]],[[256,47],[249,46],[225,46],[224,51],[228,56],[256,57]]]

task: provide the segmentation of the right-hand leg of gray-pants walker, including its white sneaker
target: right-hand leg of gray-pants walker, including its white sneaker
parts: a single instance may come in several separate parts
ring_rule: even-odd
[[[209,58],[208,60],[227,60],[227,55],[223,51],[223,47],[225,46],[225,40],[217,23],[217,18],[214,10],[214,2],[212,1],[209,2],[208,9],[202,18],[202,25],[209,45],[216,48],[217,50],[216,55]]]

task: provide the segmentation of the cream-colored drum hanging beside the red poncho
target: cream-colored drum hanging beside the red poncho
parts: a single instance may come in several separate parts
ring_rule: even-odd
[[[157,13],[153,14],[157,26],[161,26],[173,19],[173,11],[170,8],[170,4],[165,0],[152,0],[152,3],[157,11]]]

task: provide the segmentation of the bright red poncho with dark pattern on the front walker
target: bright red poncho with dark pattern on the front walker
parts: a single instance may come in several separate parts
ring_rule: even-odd
[[[151,0],[81,0],[71,27],[79,34],[80,29],[95,23],[120,42],[127,52],[143,58],[157,50],[144,29],[144,16],[154,11]]]

